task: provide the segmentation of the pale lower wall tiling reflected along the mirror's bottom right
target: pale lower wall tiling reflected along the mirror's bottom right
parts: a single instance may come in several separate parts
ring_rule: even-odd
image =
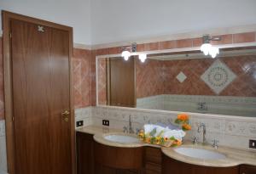
[[[256,98],[201,95],[155,95],[137,98],[137,108],[221,115],[256,116]]]

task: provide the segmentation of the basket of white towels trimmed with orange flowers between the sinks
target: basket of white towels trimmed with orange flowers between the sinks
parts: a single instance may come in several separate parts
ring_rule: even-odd
[[[151,143],[165,147],[175,147],[182,144],[184,131],[189,131],[189,115],[179,114],[175,123],[181,126],[182,130],[172,130],[168,127],[158,125],[144,125],[144,129],[138,134],[138,137],[144,143]]]

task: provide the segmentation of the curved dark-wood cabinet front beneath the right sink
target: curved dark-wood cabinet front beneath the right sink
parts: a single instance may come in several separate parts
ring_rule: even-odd
[[[196,166],[162,155],[162,174],[238,174],[239,166],[211,167]],[[253,173],[255,174],[255,173]]]

